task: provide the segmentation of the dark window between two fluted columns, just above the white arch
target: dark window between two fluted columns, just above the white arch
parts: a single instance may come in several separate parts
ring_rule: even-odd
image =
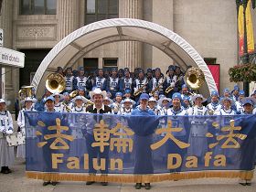
[[[118,18],[118,0],[86,0],[86,25],[108,18]]]

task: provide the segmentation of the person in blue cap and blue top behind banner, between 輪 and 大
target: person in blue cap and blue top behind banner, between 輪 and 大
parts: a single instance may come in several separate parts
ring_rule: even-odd
[[[142,93],[139,101],[140,105],[133,110],[132,116],[155,116],[155,112],[148,108],[149,95]],[[134,120],[134,119],[133,119]],[[153,159],[150,144],[152,144],[152,135],[140,136],[135,133],[134,144],[136,145],[134,173],[141,174],[142,172],[153,173]],[[144,151],[144,153],[142,153]],[[140,189],[142,183],[136,183],[135,188]],[[150,189],[150,183],[145,183],[145,189]]]

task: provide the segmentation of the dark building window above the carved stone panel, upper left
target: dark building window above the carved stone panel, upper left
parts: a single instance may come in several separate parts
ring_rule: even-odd
[[[20,15],[55,15],[56,0],[20,0]]]

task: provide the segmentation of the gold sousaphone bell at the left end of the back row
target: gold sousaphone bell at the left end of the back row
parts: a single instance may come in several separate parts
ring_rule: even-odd
[[[59,73],[50,73],[47,76],[46,88],[51,93],[59,93],[65,90],[66,80]]]

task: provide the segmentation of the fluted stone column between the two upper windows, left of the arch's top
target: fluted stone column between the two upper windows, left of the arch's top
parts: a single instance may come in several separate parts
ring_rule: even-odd
[[[58,0],[59,40],[80,27],[80,0]]]

